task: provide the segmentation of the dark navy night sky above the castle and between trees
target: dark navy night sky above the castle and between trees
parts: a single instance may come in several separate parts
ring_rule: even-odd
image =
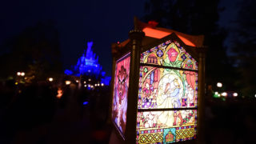
[[[27,26],[53,20],[60,35],[64,68],[75,65],[85,50],[86,42],[93,41],[94,53],[110,75],[110,45],[128,38],[128,32],[133,29],[134,16],[143,16],[145,1],[5,1],[0,6],[0,44]],[[235,15],[234,2],[231,5],[229,2],[221,2],[221,6],[226,7],[220,16],[222,26],[229,26]]]

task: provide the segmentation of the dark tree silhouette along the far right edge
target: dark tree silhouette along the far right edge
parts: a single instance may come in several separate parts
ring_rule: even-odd
[[[238,2],[240,6],[233,29],[233,60],[238,68],[236,85],[242,95],[254,97],[256,94],[256,10],[254,0]]]

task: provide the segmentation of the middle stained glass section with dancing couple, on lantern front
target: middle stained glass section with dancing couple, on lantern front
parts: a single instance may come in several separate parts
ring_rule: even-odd
[[[140,67],[138,109],[197,107],[198,73]]]

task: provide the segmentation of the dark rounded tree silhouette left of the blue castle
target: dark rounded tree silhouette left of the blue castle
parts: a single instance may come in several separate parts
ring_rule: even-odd
[[[62,70],[58,30],[52,22],[38,22],[27,27],[2,46],[6,53],[1,58],[1,77],[14,76],[18,71],[26,72],[28,80],[46,80]]]

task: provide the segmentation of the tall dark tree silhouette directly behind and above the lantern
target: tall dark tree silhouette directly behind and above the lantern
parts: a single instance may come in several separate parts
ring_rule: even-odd
[[[226,30],[218,26],[218,0],[150,0],[145,4],[145,21],[154,20],[159,26],[178,30],[185,34],[203,34],[206,54],[206,82],[215,85],[222,81],[226,86],[233,86],[233,67],[226,56],[223,42]]]

